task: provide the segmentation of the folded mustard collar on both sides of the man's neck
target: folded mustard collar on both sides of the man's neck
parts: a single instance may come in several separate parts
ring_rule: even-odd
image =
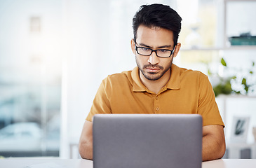
[[[140,80],[139,68],[136,66],[132,71],[133,78],[133,92],[146,92],[147,87],[145,87]],[[168,83],[165,86],[167,89],[178,90],[180,89],[180,68],[175,64],[171,66],[171,75]]]

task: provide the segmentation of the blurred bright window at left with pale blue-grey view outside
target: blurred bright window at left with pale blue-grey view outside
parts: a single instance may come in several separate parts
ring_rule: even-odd
[[[1,156],[59,155],[61,3],[0,1]]]

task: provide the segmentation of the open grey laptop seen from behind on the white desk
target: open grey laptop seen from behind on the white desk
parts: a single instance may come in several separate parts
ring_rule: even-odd
[[[97,114],[94,168],[201,168],[197,114]]]

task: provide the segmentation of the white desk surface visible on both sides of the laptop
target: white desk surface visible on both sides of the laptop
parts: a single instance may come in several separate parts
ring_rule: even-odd
[[[0,167],[8,168],[93,168],[93,161],[83,159],[0,159]],[[223,159],[203,162],[202,168],[255,168],[256,160]]]

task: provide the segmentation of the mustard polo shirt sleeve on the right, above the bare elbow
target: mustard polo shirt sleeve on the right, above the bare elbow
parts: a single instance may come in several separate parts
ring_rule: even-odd
[[[203,118],[203,126],[222,125],[222,117],[215,101],[213,87],[208,80],[208,76],[203,75],[199,83],[198,113]]]

